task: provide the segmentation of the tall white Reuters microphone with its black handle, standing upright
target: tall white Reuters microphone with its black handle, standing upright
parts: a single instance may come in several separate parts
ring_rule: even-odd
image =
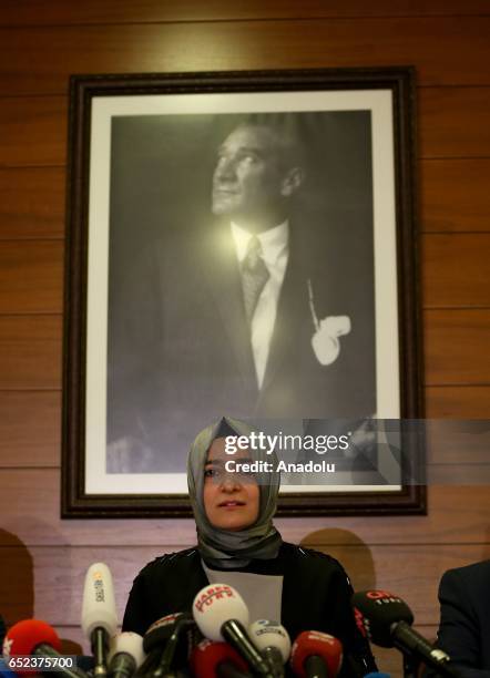
[[[108,675],[109,639],[115,635],[118,613],[111,571],[104,563],[94,563],[85,575],[82,603],[82,629],[90,639],[95,678]]]

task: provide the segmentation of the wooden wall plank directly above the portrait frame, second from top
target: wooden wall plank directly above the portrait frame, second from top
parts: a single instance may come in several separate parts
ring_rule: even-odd
[[[417,64],[423,85],[490,85],[490,17],[304,19],[299,25],[221,21],[0,29],[0,79],[10,95],[62,94],[70,73]],[[43,59],[32,69],[35,54]]]

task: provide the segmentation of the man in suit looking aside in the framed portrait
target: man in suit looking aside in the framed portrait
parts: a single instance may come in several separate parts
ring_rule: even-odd
[[[127,276],[110,326],[109,470],[183,470],[193,432],[223,414],[375,412],[374,290],[348,225],[294,214],[304,181],[290,131],[244,122],[218,150],[214,224],[164,235]]]

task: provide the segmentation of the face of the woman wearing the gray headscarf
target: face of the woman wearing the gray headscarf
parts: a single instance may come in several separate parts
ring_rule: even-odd
[[[229,460],[248,459],[246,450],[231,456],[224,438],[216,438],[204,466],[204,508],[210,523],[221,530],[236,532],[253,525],[258,517],[259,490],[252,473],[227,472]]]

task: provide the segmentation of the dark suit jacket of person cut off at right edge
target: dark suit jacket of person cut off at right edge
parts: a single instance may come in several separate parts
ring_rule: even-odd
[[[490,561],[449,569],[439,586],[437,646],[468,678],[490,677]]]

